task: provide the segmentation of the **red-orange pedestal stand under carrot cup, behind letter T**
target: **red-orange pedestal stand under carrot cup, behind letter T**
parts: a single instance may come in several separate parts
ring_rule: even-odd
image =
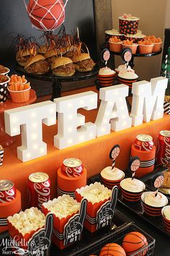
[[[2,147],[6,147],[14,143],[15,138],[10,137],[5,133],[5,127],[4,127],[4,111],[11,109],[11,108],[18,108],[20,106],[26,106],[30,105],[31,103],[34,103],[37,99],[37,95],[35,93],[35,90],[30,90],[30,100],[24,103],[14,103],[11,101],[10,98],[5,103],[0,104],[0,145]]]

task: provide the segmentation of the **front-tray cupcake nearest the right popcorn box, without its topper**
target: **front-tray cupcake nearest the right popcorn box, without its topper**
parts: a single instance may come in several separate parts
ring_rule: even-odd
[[[120,182],[125,177],[125,173],[121,171],[119,168],[114,167],[112,169],[112,166],[107,166],[104,168],[101,173],[102,182],[106,187],[109,189],[112,189],[115,185],[120,187]]]

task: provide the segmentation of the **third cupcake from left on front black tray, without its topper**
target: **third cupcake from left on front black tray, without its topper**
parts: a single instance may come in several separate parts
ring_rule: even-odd
[[[162,208],[168,203],[167,197],[161,192],[144,192],[141,199],[144,212],[149,216],[161,216]]]

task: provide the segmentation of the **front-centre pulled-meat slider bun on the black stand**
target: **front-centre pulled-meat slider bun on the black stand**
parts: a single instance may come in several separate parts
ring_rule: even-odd
[[[58,77],[71,77],[75,73],[73,61],[67,57],[53,59],[51,69]]]

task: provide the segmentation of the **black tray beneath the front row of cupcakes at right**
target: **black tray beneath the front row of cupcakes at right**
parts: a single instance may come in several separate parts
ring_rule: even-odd
[[[153,173],[148,175],[148,179],[146,179],[146,176],[143,176],[144,182],[147,183],[147,181],[149,182],[150,179],[153,178],[154,174],[157,174],[158,171],[166,171],[165,167],[162,166],[158,166],[158,168],[156,167],[155,170],[153,171]],[[128,176],[130,176],[130,174],[128,173],[128,171],[125,172],[126,176],[125,178],[127,178]],[[138,178],[140,179],[140,178]],[[93,176],[89,179],[89,184],[90,183],[94,183],[94,182],[101,182],[102,183],[102,179],[100,178],[100,175],[98,174],[97,176]],[[144,192],[147,191],[151,191],[152,189],[149,189],[149,186],[146,186],[146,189]],[[153,191],[153,190],[152,190]],[[118,197],[118,205],[123,205],[125,208],[128,208],[131,212],[135,213],[135,215],[139,216],[140,218],[142,218],[144,221],[150,223],[151,225],[153,225],[156,229],[158,229],[159,231],[163,232],[164,234],[166,234],[167,236],[170,237],[170,233],[166,231],[166,229],[164,229],[164,223],[163,223],[163,219],[162,217],[153,217],[153,216],[148,216],[146,213],[144,213],[143,210],[143,204],[142,201],[140,200],[139,202],[127,202],[124,200],[123,196],[121,195],[121,192],[119,191],[119,197]],[[167,197],[169,200],[168,205],[170,205],[170,198]]]

